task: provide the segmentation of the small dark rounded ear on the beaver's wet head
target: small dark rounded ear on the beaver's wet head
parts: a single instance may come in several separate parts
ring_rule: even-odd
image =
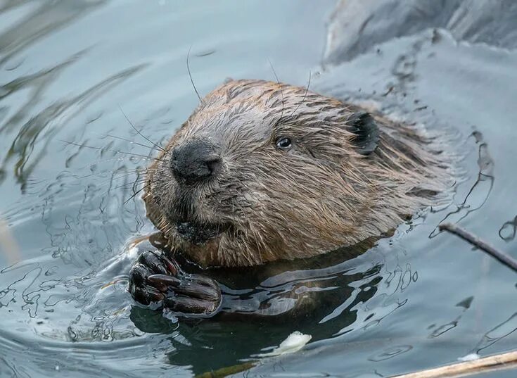
[[[347,121],[347,130],[355,134],[352,144],[357,147],[361,155],[369,155],[374,152],[379,142],[377,122],[366,112],[358,112],[350,115]]]

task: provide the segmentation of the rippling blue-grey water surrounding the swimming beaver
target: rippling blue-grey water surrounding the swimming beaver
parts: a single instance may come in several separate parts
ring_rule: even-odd
[[[517,254],[517,52],[424,30],[321,70],[333,1],[261,4],[0,2],[0,218],[14,241],[0,255],[1,377],[189,377],[295,330],[313,336],[305,350],[250,377],[388,377],[513,348],[515,273],[435,227],[460,221]],[[454,198],[357,259],[302,272],[337,300],[306,320],[177,322],[132,308],[130,244],[153,225],[138,196],[125,202],[149,151],[108,134],[145,142],[120,108],[155,141],[181,125],[197,103],[190,47],[202,94],[226,77],[272,80],[269,58],[283,81],[310,71],[319,92],[447,130],[464,170]]]

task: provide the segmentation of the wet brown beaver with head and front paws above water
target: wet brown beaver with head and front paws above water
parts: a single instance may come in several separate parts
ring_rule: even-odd
[[[382,237],[445,191],[441,156],[418,127],[308,87],[229,80],[148,167],[143,201],[163,241],[136,260],[129,291],[212,316],[220,285],[178,256],[238,270]]]

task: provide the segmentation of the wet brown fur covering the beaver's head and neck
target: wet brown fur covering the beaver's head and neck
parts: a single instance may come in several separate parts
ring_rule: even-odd
[[[288,84],[222,84],[148,170],[149,218],[203,267],[305,258],[394,229],[445,189],[447,168],[433,140],[377,115],[378,148],[359,154],[347,127],[359,110]],[[276,149],[281,136],[293,149]],[[170,151],[193,137],[221,146],[222,170],[186,191],[170,171]],[[225,231],[203,245],[181,239],[174,225],[181,206]]]

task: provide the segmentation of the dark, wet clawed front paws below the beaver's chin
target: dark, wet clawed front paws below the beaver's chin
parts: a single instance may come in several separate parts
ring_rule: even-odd
[[[191,275],[161,251],[143,252],[129,272],[129,292],[144,305],[158,305],[182,315],[214,315],[222,294],[209,277]]]

